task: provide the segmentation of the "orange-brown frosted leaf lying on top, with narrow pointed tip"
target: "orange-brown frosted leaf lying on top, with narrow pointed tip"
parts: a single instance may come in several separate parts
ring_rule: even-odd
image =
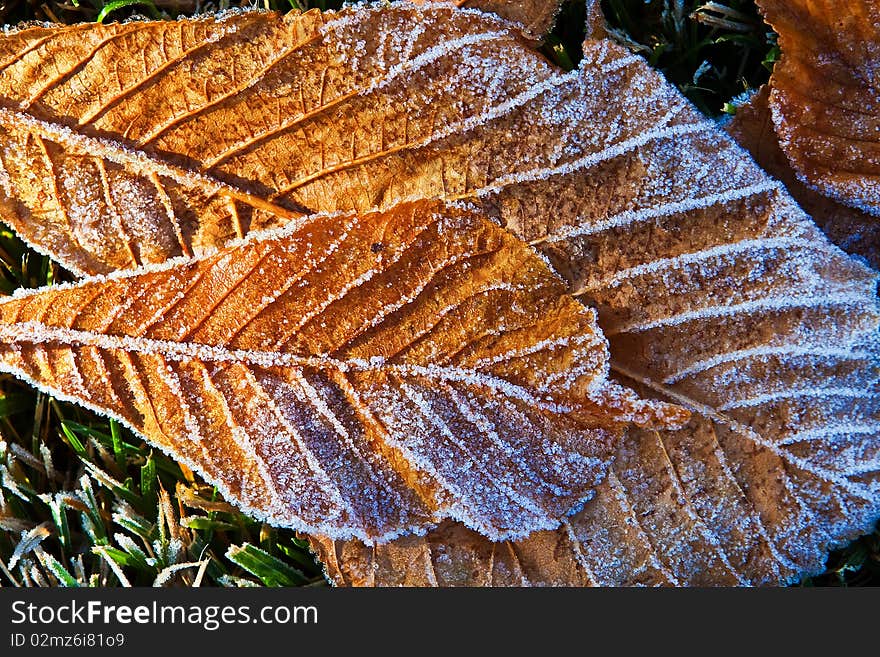
[[[118,417],[276,525],[524,536],[592,494],[623,423],[595,314],[436,204],[294,222],[202,259],[0,303],[0,368]]]

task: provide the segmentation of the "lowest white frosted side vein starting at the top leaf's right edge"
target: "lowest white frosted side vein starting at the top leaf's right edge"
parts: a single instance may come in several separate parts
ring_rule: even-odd
[[[698,308],[697,310],[688,310],[675,315],[670,315],[669,317],[652,319],[646,322],[633,322],[631,324],[625,324],[619,328],[607,330],[605,334],[611,337],[621,333],[640,333],[663,326],[677,326],[679,324],[685,324],[687,322],[701,319],[732,317],[739,314],[745,315],[756,312],[774,312],[779,310],[793,310],[795,308],[811,309],[821,308],[823,306],[857,306],[863,305],[866,302],[866,299],[867,297],[864,294],[859,293],[810,295],[800,297],[767,297],[729,306],[706,306],[704,308]]]

